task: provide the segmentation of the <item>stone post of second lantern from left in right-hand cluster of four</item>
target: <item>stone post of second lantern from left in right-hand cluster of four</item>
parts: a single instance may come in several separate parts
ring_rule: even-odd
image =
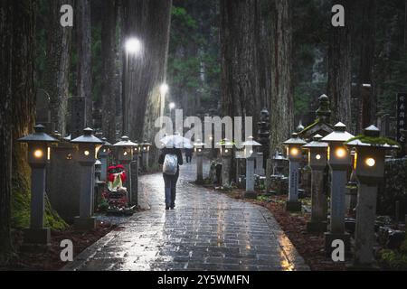
[[[307,223],[308,232],[327,230],[327,195],[324,191],[324,170],[312,170],[311,176],[311,220]]]

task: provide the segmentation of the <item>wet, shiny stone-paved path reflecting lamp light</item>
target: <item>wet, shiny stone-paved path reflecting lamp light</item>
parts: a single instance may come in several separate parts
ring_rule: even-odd
[[[205,170],[208,171],[208,166]],[[269,210],[194,186],[182,167],[175,210],[165,210],[162,175],[140,177],[145,209],[63,270],[308,270]]]

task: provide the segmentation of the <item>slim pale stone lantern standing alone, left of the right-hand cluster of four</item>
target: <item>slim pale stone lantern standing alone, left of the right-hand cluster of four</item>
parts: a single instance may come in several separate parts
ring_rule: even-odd
[[[256,152],[254,147],[261,146],[251,136],[249,140],[242,144],[244,146],[244,156],[246,158],[246,191],[244,198],[256,199],[257,193],[254,191],[254,160],[256,159]]]

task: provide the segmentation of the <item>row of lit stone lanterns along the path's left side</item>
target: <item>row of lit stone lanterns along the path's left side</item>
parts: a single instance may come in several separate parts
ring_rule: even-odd
[[[50,230],[44,228],[44,194],[46,165],[51,159],[52,145],[59,144],[59,140],[44,133],[44,126],[34,127],[35,132],[20,138],[18,141],[28,144],[28,163],[32,168],[32,200],[31,200],[31,221],[30,228],[24,232],[24,243],[48,245],[50,243]],[[95,219],[93,215],[93,198],[95,187],[95,170],[98,169],[99,180],[106,180],[106,171],[108,167],[108,156],[110,148],[118,148],[118,162],[126,165],[133,161],[133,149],[140,151],[144,158],[148,158],[150,145],[147,142],[135,144],[123,137],[118,144],[111,145],[106,139],[99,139],[93,135],[91,128],[85,128],[83,135],[72,139],[71,144],[75,144],[76,159],[80,164],[80,212],[74,219],[75,228],[78,230],[87,230],[95,228]],[[72,154],[70,154],[72,155]],[[99,155],[99,165],[97,164]],[[128,167],[129,169],[129,167]],[[131,171],[131,170],[129,170]],[[137,170],[138,171],[138,170]],[[136,171],[136,174],[137,174]],[[131,178],[130,178],[131,179]],[[132,199],[136,199],[136,191],[131,191]]]

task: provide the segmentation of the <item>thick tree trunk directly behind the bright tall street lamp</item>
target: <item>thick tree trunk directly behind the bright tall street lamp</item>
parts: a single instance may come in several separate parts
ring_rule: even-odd
[[[123,101],[123,129],[133,140],[154,140],[160,86],[166,82],[172,1],[125,0],[123,5],[126,37],[137,37],[142,45],[138,55],[128,54],[124,71],[128,93]]]

